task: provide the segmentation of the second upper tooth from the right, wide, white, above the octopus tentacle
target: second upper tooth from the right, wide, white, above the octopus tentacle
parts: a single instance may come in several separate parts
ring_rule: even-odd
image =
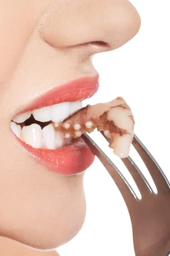
[[[70,102],[62,102],[51,106],[53,122],[62,122],[70,114]]]

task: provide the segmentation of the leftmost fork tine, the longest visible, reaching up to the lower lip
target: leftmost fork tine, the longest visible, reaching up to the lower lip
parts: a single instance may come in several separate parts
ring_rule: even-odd
[[[99,146],[91,139],[88,134],[82,134],[83,140],[88,144],[91,151],[99,158],[101,163],[105,166],[108,173],[111,175],[112,179],[116,183],[119,191],[121,192],[125,203],[128,206],[134,201],[139,200],[136,193],[133,191],[130,184],[127,182],[125,177],[119,171],[119,169],[114,165],[114,163],[108,158],[108,156],[99,148]]]

